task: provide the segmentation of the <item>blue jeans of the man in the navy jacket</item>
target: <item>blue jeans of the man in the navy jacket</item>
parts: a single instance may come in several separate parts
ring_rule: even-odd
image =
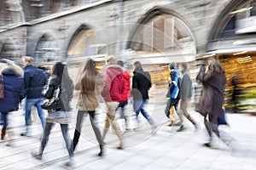
[[[41,105],[44,102],[44,98],[38,98],[38,99],[26,99],[26,106],[25,106],[25,122],[26,127],[32,124],[31,120],[31,110],[32,106],[35,105],[38,110],[38,116],[40,118],[40,121],[42,123],[42,127],[44,128],[44,111],[41,108]]]

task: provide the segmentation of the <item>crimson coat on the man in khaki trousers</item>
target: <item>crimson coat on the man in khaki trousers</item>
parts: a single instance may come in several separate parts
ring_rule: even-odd
[[[123,70],[119,65],[108,65],[105,71],[102,98],[105,102],[120,102],[121,94],[125,88],[125,79],[123,77]]]

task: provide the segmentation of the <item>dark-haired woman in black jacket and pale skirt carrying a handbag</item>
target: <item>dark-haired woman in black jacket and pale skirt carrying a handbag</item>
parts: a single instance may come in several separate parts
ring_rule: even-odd
[[[73,82],[71,78],[68,76],[66,65],[61,62],[57,62],[53,66],[53,77],[50,78],[49,88],[47,94],[53,94],[53,91],[60,87],[61,96],[59,99],[62,100],[63,105],[59,111],[48,111],[48,115],[46,116],[45,126],[44,126],[44,134],[43,138],[40,142],[39,150],[31,152],[32,157],[41,160],[44,148],[49,140],[50,130],[54,126],[55,123],[59,123],[61,126],[61,133],[66,142],[67,151],[69,154],[69,161],[65,163],[66,166],[73,165],[73,142],[68,135],[68,124],[71,122],[71,116],[69,115],[69,102],[72,99],[71,95],[73,94]],[[67,97],[64,97],[67,96]]]

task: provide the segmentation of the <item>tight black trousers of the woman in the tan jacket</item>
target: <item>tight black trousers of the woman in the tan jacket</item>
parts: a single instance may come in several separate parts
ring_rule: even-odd
[[[75,150],[76,145],[79,142],[79,138],[81,135],[81,125],[84,121],[84,116],[88,116],[90,115],[90,124],[92,126],[92,129],[96,135],[96,139],[98,141],[99,144],[103,144],[102,141],[102,134],[100,132],[99,127],[96,126],[95,124],[95,111],[79,111],[78,112],[78,116],[77,116],[77,122],[76,122],[76,129],[73,135],[73,150]]]

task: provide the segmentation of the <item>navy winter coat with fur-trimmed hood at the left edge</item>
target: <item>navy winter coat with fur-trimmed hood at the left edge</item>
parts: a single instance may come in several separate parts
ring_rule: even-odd
[[[7,66],[2,71],[2,75],[4,97],[0,99],[0,112],[18,111],[21,99],[25,98],[24,80],[20,68]]]

